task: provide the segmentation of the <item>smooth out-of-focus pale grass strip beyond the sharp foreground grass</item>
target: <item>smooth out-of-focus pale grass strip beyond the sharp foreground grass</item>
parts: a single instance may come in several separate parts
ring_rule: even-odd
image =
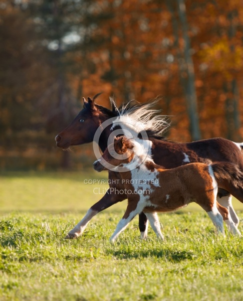
[[[0,174],[0,212],[6,211],[81,211],[99,201],[108,184],[85,184],[85,180],[107,180],[107,173],[5,173]],[[99,193],[99,194],[97,194]],[[243,204],[233,200],[235,210]],[[108,208],[126,208],[126,201]],[[190,204],[183,211],[202,209]]]

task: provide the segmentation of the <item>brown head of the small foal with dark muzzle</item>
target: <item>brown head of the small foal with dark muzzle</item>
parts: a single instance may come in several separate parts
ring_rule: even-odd
[[[134,144],[126,136],[114,137],[114,143],[106,148],[102,157],[94,162],[94,169],[97,172],[110,169],[110,166],[117,167],[128,164],[134,157]]]

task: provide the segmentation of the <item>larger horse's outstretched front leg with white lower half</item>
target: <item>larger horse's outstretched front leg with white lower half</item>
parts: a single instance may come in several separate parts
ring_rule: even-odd
[[[67,234],[66,239],[75,239],[83,234],[89,221],[97,213],[107,209],[108,207],[126,199],[126,195],[118,195],[111,193],[110,189],[106,192],[103,198],[95,203],[86,213],[84,218]]]

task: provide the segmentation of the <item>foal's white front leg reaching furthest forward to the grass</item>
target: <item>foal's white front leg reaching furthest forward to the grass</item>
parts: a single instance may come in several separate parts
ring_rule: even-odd
[[[137,206],[134,206],[134,204],[131,204],[128,202],[127,209],[126,209],[122,219],[117,224],[116,230],[110,237],[110,241],[114,242],[117,239],[117,237],[119,236],[119,234],[126,229],[127,225],[130,223],[130,221],[140,212],[141,212],[141,210],[139,210]]]

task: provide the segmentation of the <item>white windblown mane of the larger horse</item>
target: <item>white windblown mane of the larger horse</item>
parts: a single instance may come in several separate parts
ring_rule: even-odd
[[[112,101],[113,99],[111,99]],[[170,122],[168,122],[168,116],[159,115],[161,110],[152,109],[158,101],[156,99],[149,103],[137,103],[130,107],[131,101],[128,102],[119,109],[119,115],[114,119],[113,127],[119,125],[122,129],[129,130],[133,135],[145,130],[162,136]]]

